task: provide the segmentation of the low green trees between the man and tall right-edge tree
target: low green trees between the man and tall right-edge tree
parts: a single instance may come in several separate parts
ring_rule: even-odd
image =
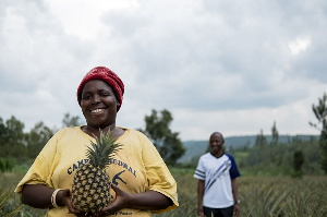
[[[275,131],[276,134],[272,134]],[[231,148],[230,152],[239,157],[240,167],[254,173],[290,174],[302,177],[304,173],[323,172],[319,141],[311,136],[302,141],[298,136],[286,143],[279,142],[276,122],[271,128],[271,140],[261,131],[252,147]]]

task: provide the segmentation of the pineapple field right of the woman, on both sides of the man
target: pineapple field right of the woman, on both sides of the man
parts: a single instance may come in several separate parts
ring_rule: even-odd
[[[197,217],[197,182],[192,173],[174,173],[180,207],[160,217]],[[327,216],[327,177],[251,176],[241,177],[240,217],[324,217]]]

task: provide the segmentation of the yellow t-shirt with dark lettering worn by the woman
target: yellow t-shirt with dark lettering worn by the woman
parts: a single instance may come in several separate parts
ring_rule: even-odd
[[[129,193],[141,193],[148,190],[157,191],[172,200],[173,205],[162,213],[179,206],[177,183],[169,172],[153,143],[141,132],[123,129],[125,132],[117,143],[122,144],[121,149],[111,160],[107,172],[114,184]],[[80,165],[87,161],[86,146],[90,146],[94,137],[84,133],[81,126],[62,129],[56,133],[39,153],[34,164],[15,189],[22,192],[24,184],[46,184],[53,189],[72,189],[74,174]],[[114,198],[114,191],[111,190]],[[51,208],[47,217],[74,216],[68,214],[68,208]],[[148,210],[121,209],[112,216],[152,216]]]

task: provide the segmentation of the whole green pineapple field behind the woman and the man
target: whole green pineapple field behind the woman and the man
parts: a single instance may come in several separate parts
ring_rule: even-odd
[[[180,207],[154,217],[196,217],[197,182],[192,169],[171,169],[178,182]],[[23,172],[0,173],[0,216],[38,217],[46,210],[21,204],[13,193]],[[325,217],[327,177],[243,176],[239,181],[240,217]]]

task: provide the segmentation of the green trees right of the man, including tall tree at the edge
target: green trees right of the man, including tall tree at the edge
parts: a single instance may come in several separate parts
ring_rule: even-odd
[[[312,106],[317,122],[308,124],[319,132],[319,140],[311,137],[310,141],[290,141],[288,144],[279,143],[279,133],[276,122],[271,128],[271,141],[267,142],[263,130],[257,134],[255,145],[251,148],[242,147],[245,157],[241,158],[243,167],[255,168],[258,171],[275,170],[301,177],[303,172],[314,173],[323,171],[327,174],[327,95],[318,98],[318,104]],[[242,148],[232,149],[233,153],[242,153]]]

